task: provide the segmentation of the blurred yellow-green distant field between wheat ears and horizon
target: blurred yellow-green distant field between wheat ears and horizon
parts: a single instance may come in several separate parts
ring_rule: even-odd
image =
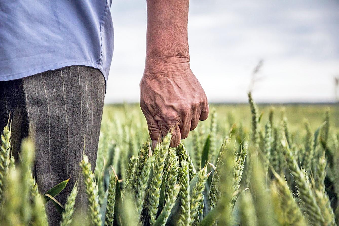
[[[276,123],[281,120],[282,111],[290,123],[292,132],[300,128],[303,128],[303,120],[307,119],[312,129],[316,129],[321,123],[323,123],[324,112],[329,109],[331,118],[331,127],[334,131],[339,130],[339,104],[337,103],[293,103],[293,104],[258,104],[259,114],[262,114],[264,122],[268,119],[268,112],[273,108],[275,112]],[[216,111],[216,117],[218,120],[218,133],[220,136],[225,136],[226,128],[230,128],[230,124],[242,123],[242,125],[249,129],[251,127],[251,111],[247,103],[228,103],[228,104],[210,104],[210,110]],[[128,116],[130,115],[130,116]],[[105,126],[108,118],[115,118],[116,120],[125,121],[128,118],[134,122],[138,122],[140,125],[140,132],[144,139],[147,139],[147,124],[139,104],[106,104],[103,111],[102,124]],[[209,117],[206,121],[200,121],[199,126],[208,127],[210,124]],[[188,135],[190,139],[191,135]],[[184,141],[185,142],[185,141]]]

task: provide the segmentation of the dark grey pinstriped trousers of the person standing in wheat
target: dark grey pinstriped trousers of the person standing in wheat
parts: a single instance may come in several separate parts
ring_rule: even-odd
[[[81,174],[85,153],[95,168],[105,95],[102,73],[87,66],[67,66],[23,79],[0,82],[0,128],[12,123],[13,154],[18,158],[21,139],[35,142],[34,174],[44,193],[71,177],[56,197],[65,204]],[[85,207],[86,194],[80,177],[77,207]],[[50,226],[59,225],[60,214],[51,202],[46,207]]]

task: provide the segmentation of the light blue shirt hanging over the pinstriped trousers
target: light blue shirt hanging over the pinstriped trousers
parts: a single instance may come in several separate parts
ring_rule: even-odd
[[[69,65],[98,68],[113,55],[111,0],[0,0],[0,81]]]

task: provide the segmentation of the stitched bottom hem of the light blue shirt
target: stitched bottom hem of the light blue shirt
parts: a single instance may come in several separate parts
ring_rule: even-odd
[[[66,66],[72,66],[72,65],[83,65],[83,66],[89,66],[89,67],[94,67],[97,68],[101,71],[101,74],[103,75],[104,79],[105,79],[105,83],[107,83],[107,78],[106,75],[104,74],[104,69],[102,67],[102,65],[95,63],[95,62],[90,62],[90,61],[70,61],[70,62],[63,62],[63,63],[56,63],[56,64],[49,64],[49,65],[45,65],[39,68],[34,68],[31,70],[27,70],[24,72],[20,72],[20,73],[15,73],[12,75],[3,75],[0,76],[0,81],[10,81],[10,80],[15,80],[15,79],[21,79],[21,78],[25,78],[28,76],[32,76],[32,75],[36,75],[48,70],[56,70],[62,67],[66,67]]]

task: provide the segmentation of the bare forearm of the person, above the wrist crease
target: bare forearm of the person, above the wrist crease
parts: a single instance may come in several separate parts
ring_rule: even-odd
[[[147,0],[146,66],[153,61],[190,61],[189,0]]]

